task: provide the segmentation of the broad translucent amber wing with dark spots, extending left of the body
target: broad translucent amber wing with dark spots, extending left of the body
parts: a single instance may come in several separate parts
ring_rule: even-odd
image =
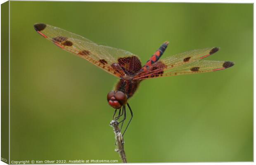
[[[63,50],[90,61],[92,64],[99,66],[104,71],[107,71],[116,77],[123,77],[125,75],[126,68],[121,67],[119,65],[120,62],[126,64],[127,61],[129,62],[127,59],[133,59],[130,61],[136,59],[135,61],[137,61],[137,63],[139,61],[140,63],[139,57],[128,51],[97,45],[80,35],[76,35],[55,26],[35,24],[34,28],[40,35],[43,35],[43,37],[52,41]]]

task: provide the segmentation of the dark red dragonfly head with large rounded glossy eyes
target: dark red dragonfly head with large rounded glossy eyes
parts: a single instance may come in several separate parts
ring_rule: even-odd
[[[107,101],[109,105],[115,109],[120,109],[123,105],[127,103],[127,95],[121,91],[111,90],[107,94]]]

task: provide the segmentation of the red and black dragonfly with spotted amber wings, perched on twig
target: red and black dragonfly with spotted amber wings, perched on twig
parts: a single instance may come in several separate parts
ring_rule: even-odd
[[[126,120],[126,105],[129,108],[131,117],[123,135],[133,118],[133,111],[128,104],[128,99],[133,96],[142,80],[214,72],[234,65],[231,61],[202,60],[216,53],[219,50],[218,47],[191,50],[160,59],[168,46],[169,42],[166,41],[142,66],[140,58],[126,50],[98,45],[80,35],[47,24],[34,24],[34,29],[61,49],[86,59],[119,78],[114,90],[107,94],[107,102],[114,108],[113,120],[119,120],[123,116],[119,121],[119,124],[122,123],[121,129]],[[119,112],[116,114],[118,110]]]

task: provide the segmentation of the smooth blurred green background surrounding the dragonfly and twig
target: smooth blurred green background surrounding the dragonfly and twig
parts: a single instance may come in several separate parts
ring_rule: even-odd
[[[119,160],[107,93],[116,78],[38,35],[35,23],[128,50],[144,64],[220,47],[224,71],[145,80],[129,103],[128,162],[253,160],[253,4],[10,3],[11,160]]]

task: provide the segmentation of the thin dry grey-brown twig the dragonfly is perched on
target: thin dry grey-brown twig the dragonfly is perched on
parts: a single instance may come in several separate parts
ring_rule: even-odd
[[[110,126],[113,127],[114,133],[115,133],[115,139],[116,139],[116,149],[115,151],[119,153],[120,158],[122,159],[123,163],[127,163],[126,160],[126,153],[124,152],[124,141],[123,141],[123,135],[121,134],[121,131],[119,129],[119,123],[116,120],[112,120],[110,122]]]

